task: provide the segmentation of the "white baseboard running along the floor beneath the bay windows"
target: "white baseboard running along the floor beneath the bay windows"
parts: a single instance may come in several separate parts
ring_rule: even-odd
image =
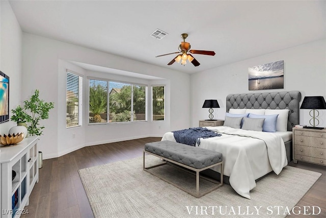
[[[141,135],[141,136],[132,136],[132,137],[125,137],[125,138],[116,138],[116,139],[109,139],[109,140],[102,140],[102,141],[93,141],[86,144],[79,144],[78,146],[66,149],[59,153],[52,153],[52,154],[43,154],[43,160],[61,157],[63,155],[69,154],[70,152],[74,152],[78,149],[82,149],[87,146],[98,146],[99,144],[106,144],[106,143],[113,143],[119,141],[126,141],[126,140],[133,140],[139,138],[147,138],[147,137],[162,137],[162,135]]]

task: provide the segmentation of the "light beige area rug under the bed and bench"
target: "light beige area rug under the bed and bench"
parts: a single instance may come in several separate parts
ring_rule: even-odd
[[[146,156],[146,167],[160,162],[159,158]],[[195,187],[195,177],[175,167],[153,169],[189,188]],[[292,208],[321,175],[286,166],[280,175],[272,173],[259,180],[249,200],[227,184],[197,199],[143,171],[142,157],[78,172],[95,217],[151,218],[285,217],[292,214]],[[206,185],[201,181],[201,188]]]

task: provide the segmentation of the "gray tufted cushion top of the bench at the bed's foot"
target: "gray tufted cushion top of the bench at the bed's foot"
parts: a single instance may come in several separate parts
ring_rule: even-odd
[[[145,151],[201,169],[223,160],[220,152],[209,151],[173,141],[157,141],[145,144]]]

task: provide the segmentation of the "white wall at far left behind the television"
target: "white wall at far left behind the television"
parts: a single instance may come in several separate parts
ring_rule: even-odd
[[[8,1],[0,1],[0,70],[10,77],[9,107],[21,103],[21,37],[22,32]],[[16,123],[0,124],[0,134],[8,134]]]

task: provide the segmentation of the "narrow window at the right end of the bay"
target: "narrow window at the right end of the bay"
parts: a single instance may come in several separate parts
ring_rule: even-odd
[[[152,120],[165,120],[165,86],[152,87]]]

